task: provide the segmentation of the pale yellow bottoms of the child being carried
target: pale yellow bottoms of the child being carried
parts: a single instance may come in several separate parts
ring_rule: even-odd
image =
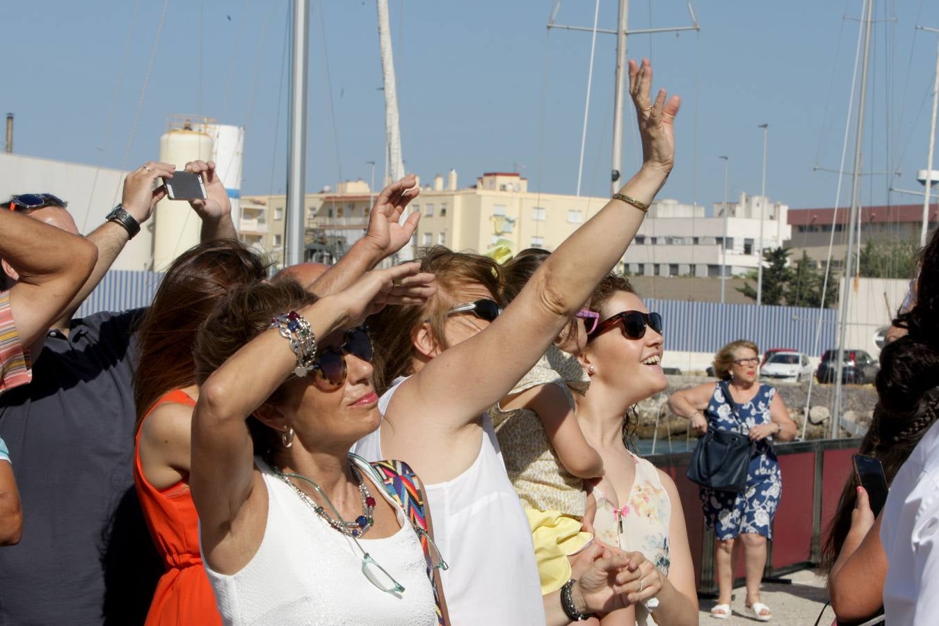
[[[557,591],[571,578],[567,557],[576,555],[593,540],[593,535],[580,530],[580,520],[558,511],[526,509],[534,542],[534,557],[541,577],[541,593]]]

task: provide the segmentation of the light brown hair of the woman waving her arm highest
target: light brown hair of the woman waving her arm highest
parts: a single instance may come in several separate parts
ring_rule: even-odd
[[[443,313],[454,303],[461,287],[481,284],[501,303],[502,270],[487,256],[453,252],[443,246],[430,248],[421,255],[421,271],[433,272],[437,293],[421,306],[385,307],[368,319],[375,343],[375,389],[383,393],[398,376],[413,374],[417,356],[414,333],[426,323],[441,350],[447,345],[443,334]]]

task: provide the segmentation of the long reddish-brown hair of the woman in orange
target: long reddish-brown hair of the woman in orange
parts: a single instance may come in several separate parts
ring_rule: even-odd
[[[134,373],[134,432],[167,391],[195,383],[192,346],[199,325],[235,285],[263,280],[268,267],[244,244],[221,239],[179,255],[167,269],[141,320]]]

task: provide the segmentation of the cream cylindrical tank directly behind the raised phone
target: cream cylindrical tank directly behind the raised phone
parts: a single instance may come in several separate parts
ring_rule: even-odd
[[[212,158],[212,137],[204,118],[172,115],[160,137],[160,160],[181,170],[191,160]],[[199,243],[202,226],[188,202],[164,198],[153,216],[153,269],[163,271],[181,253]]]

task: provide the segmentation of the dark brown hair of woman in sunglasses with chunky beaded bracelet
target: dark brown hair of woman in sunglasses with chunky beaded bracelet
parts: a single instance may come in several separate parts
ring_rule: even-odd
[[[196,337],[193,359],[195,380],[200,385],[212,372],[239,351],[241,346],[267,330],[270,318],[296,311],[316,302],[316,296],[290,277],[273,282],[239,284],[208,314]],[[250,381],[245,381],[250,384]],[[276,389],[267,403],[278,404],[284,398],[284,385]],[[254,454],[271,465],[275,450],[280,450],[280,433],[251,416],[247,420],[254,443]]]

